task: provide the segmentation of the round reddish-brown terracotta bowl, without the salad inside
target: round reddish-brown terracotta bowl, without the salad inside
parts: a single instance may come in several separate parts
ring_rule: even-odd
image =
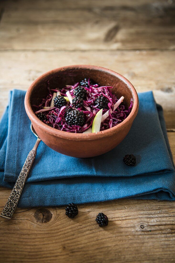
[[[49,127],[36,117],[32,105],[39,105],[47,96],[48,80],[50,87],[55,89],[80,82],[85,77],[101,86],[112,86],[117,98],[125,97],[126,107],[133,98],[131,113],[122,123],[98,133],[68,133]],[[133,85],[119,73],[97,66],[74,65],[53,69],[36,79],[25,95],[25,110],[38,136],[50,148],[73,157],[93,157],[112,150],[125,138],[138,112],[138,95]]]

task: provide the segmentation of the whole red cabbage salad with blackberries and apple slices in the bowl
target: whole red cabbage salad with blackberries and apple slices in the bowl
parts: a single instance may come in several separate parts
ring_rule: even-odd
[[[47,84],[47,97],[33,107],[42,122],[58,130],[73,133],[103,131],[125,120],[133,106],[131,98],[126,109],[122,104],[123,96],[117,98],[111,86],[99,86],[91,79],[60,89],[52,89],[49,81]]]

